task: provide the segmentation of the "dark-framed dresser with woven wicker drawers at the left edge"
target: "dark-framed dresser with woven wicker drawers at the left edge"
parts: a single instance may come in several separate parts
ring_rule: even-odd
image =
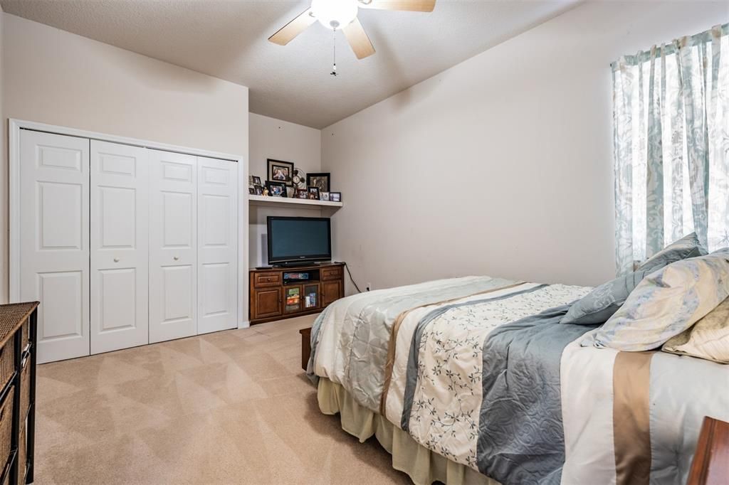
[[[0,305],[0,484],[33,482],[38,302]]]

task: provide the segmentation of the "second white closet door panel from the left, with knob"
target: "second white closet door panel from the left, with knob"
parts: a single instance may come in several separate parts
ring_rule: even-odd
[[[149,342],[147,150],[91,141],[91,353]]]

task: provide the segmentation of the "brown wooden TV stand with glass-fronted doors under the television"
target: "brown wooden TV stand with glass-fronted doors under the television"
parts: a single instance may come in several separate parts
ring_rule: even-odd
[[[344,296],[344,264],[252,269],[251,325],[321,312]]]

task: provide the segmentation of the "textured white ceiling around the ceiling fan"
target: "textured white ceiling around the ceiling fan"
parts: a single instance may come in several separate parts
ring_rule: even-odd
[[[326,127],[555,17],[579,0],[437,0],[434,12],[359,9],[377,52],[356,60],[315,23],[268,36],[309,0],[1,0],[4,12],[250,88],[250,110]]]

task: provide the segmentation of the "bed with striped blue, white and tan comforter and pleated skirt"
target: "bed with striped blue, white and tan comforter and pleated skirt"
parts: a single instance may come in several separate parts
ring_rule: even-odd
[[[461,277],[336,301],[311,331],[319,407],[416,484],[682,484],[729,366],[582,347],[591,288]]]

